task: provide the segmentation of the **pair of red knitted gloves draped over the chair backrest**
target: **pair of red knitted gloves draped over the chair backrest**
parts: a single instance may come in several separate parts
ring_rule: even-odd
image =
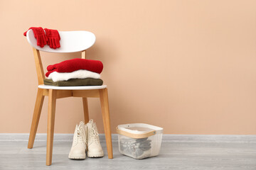
[[[45,28],[45,33],[41,27],[31,27],[28,30],[30,29],[33,30],[38,46],[44,47],[47,44],[53,49],[60,47],[60,34],[58,33],[58,30]],[[23,33],[24,36],[26,36],[27,31]]]

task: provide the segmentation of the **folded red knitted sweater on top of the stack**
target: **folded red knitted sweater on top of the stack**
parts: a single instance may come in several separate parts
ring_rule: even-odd
[[[103,64],[98,60],[86,60],[80,58],[65,60],[58,64],[49,65],[47,67],[48,72],[46,73],[46,77],[52,72],[75,72],[78,69],[86,69],[90,72],[100,74],[103,69]]]

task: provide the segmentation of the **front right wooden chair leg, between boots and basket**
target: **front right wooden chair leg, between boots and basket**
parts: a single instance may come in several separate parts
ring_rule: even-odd
[[[110,109],[109,109],[109,103],[108,103],[107,88],[100,89],[99,92],[100,92],[100,104],[102,108],[102,118],[103,118],[105,137],[106,137],[106,143],[107,143],[107,154],[109,159],[113,159],[112,139],[111,139],[111,131],[110,131]]]

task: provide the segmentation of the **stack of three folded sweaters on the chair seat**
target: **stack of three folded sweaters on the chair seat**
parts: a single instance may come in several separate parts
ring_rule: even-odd
[[[103,64],[97,60],[75,58],[58,64],[49,65],[47,79],[43,82],[50,86],[101,86]]]

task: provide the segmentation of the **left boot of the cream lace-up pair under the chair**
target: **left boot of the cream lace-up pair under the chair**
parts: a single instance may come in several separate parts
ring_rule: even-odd
[[[73,145],[70,149],[69,159],[85,159],[86,150],[86,132],[87,128],[85,123],[80,122],[80,125],[75,126],[75,133],[73,137]]]

